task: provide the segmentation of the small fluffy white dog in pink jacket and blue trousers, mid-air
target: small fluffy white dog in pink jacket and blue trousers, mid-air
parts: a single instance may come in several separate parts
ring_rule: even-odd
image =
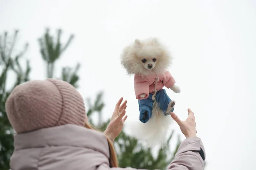
[[[174,110],[175,101],[166,94],[163,87],[179,93],[167,68],[172,63],[172,56],[167,48],[157,40],[136,39],[126,46],[121,55],[121,64],[128,75],[134,75],[134,90],[139,102],[140,123],[133,126],[134,136],[147,140],[151,145],[159,144],[165,139],[167,127],[171,121],[169,115]]]

